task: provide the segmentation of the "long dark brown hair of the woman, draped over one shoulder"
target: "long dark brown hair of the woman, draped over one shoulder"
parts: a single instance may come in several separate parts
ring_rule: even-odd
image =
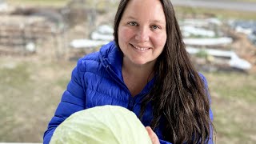
[[[118,26],[129,0],[121,0],[114,18],[114,41],[118,46]],[[170,0],[160,0],[166,16],[166,45],[154,66],[156,79],[150,94],[142,102],[140,118],[148,102],[153,106],[155,129],[164,119],[163,138],[179,143],[205,143],[214,128],[210,121],[209,90],[194,69],[186,53]],[[119,46],[118,46],[119,47]]]

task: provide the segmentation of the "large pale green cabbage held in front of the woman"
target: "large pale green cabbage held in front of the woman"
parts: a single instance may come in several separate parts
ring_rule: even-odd
[[[66,118],[54,131],[51,144],[151,144],[137,116],[121,106],[96,106]]]

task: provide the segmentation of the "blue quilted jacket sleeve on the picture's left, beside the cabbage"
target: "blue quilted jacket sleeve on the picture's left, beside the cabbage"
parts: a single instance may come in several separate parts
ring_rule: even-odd
[[[50,138],[54,134],[54,130],[71,114],[84,109],[85,92],[82,84],[83,73],[81,72],[82,60],[78,61],[78,65],[74,68],[71,80],[62,94],[62,100],[58,104],[54,117],[50,120],[48,128],[43,136],[43,143],[48,144]]]

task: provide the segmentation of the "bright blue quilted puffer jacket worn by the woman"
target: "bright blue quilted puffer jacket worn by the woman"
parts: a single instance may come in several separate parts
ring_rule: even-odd
[[[201,74],[202,76],[202,74]],[[207,86],[206,79],[202,76]],[[150,92],[154,78],[147,83],[140,94],[132,97],[130,90],[122,78],[122,54],[114,42],[102,46],[98,52],[88,54],[78,60],[72,71],[71,80],[62,95],[54,117],[50,120],[43,143],[48,144],[54,130],[71,114],[94,106],[123,106],[133,111],[137,116],[140,112],[142,98]],[[142,124],[149,126],[152,120],[150,103],[142,117]],[[210,118],[213,118],[210,110]],[[162,140],[162,124],[154,131],[161,144],[170,144]],[[212,138],[210,138],[210,143]]]

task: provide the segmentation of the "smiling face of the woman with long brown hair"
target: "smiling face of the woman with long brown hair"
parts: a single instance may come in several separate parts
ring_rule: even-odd
[[[118,26],[124,61],[155,62],[166,43],[166,17],[159,0],[131,0]]]

